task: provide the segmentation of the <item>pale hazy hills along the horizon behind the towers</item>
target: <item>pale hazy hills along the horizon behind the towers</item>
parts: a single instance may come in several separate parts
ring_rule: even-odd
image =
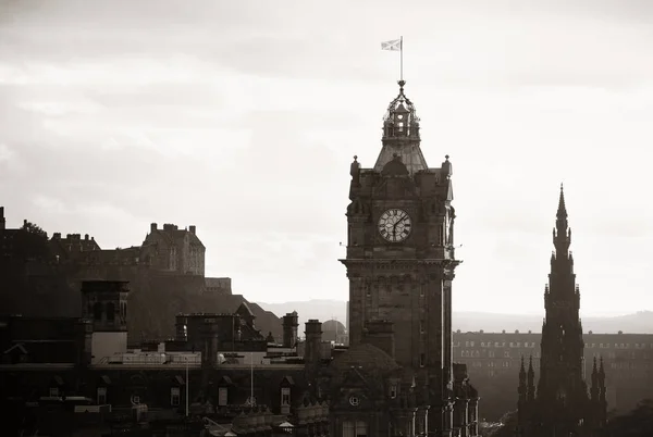
[[[318,319],[325,322],[336,319],[346,325],[346,304],[340,300],[307,300],[284,303],[263,303],[259,305],[272,311],[278,316],[297,311],[299,315],[300,332],[304,323],[309,319]],[[542,330],[543,315],[520,314],[495,314],[470,311],[454,312],[454,329],[502,332],[502,330]],[[592,330],[599,333],[618,333],[623,330],[628,334],[653,334],[653,311],[640,311],[634,314],[626,314],[611,317],[582,317],[583,332]]]

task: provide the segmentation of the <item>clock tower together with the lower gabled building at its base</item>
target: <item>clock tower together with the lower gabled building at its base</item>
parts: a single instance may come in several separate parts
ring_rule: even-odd
[[[419,118],[398,84],[374,166],[355,157],[350,167],[341,260],[350,348],[332,363],[331,434],[473,436],[478,396],[461,367],[456,380],[452,353],[452,164],[447,155],[428,166]],[[456,384],[470,387],[464,413]]]

